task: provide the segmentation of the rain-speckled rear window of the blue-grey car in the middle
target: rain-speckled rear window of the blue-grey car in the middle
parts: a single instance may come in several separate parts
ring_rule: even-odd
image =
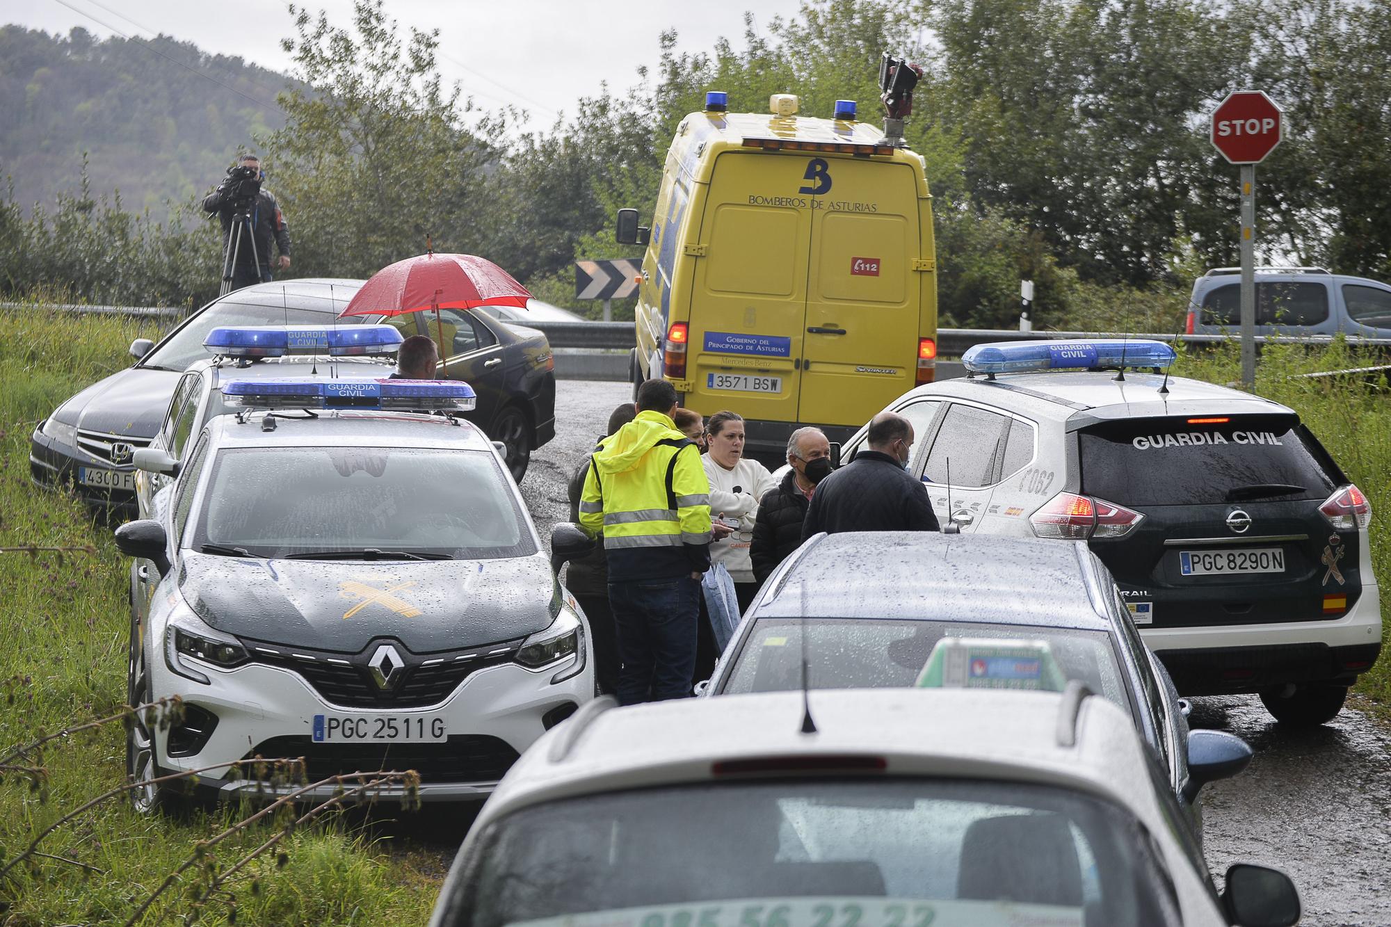
[[[1081,679],[1134,717],[1110,635],[1036,625],[865,618],[761,618],[734,657],[723,693],[801,688],[801,637],[807,631],[807,685],[812,689],[911,686],[944,636],[1045,640],[1063,676]]]

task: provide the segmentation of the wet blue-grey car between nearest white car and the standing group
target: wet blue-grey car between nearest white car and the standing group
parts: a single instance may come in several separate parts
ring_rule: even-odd
[[[1202,834],[1187,706],[1085,543],[818,534],[769,576],[707,695],[796,689],[804,678],[811,689],[1059,690],[1081,679],[1129,713]],[[1213,734],[1196,749],[1249,759],[1244,743]]]

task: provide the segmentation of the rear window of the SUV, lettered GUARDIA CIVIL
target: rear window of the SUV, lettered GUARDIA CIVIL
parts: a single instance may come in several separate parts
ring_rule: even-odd
[[[1118,505],[1321,501],[1331,461],[1289,415],[1139,419],[1079,436],[1082,491]]]

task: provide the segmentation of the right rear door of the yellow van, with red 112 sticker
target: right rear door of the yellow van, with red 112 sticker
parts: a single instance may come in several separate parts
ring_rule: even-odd
[[[797,159],[787,159],[797,160]],[[862,425],[914,386],[921,251],[912,167],[807,159],[815,184],[798,420]]]

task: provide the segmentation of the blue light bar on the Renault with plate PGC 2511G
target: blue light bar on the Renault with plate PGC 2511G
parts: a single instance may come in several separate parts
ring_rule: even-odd
[[[467,383],[452,380],[327,380],[314,377],[273,377],[232,380],[223,395],[243,408],[282,409],[398,409],[467,412],[477,395]]]

